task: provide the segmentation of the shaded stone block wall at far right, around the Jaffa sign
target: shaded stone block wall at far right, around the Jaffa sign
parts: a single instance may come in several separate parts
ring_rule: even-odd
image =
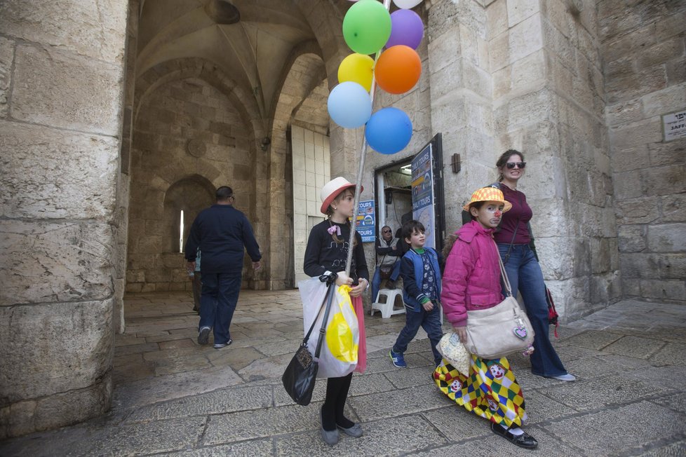
[[[686,3],[598,2],[622,294],[686,303],[686,138],[661,114],[686,109]]]

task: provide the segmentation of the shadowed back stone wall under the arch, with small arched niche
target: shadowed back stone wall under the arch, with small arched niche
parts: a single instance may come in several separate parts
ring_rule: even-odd
[[[234,205],[250,219],[250,129],[229,99],[199,78],[169,81],[147,94],[133,128],[126,289],[190,290],[179,252],[180,210],[187,234],[198,212],[214,203],[215,189],[229,185]]]

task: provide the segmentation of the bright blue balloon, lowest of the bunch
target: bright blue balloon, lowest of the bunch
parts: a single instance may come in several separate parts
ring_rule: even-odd
[[[381,154],[396,154],[410,144],[412,121],[402,109],[379,109],[369,118],[365,137],[375,151]]]

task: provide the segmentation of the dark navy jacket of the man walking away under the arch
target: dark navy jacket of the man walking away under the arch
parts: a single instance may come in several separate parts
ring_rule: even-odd
[[[198,247],[203,253],[202,274],[241,273],[243,247],[254,262],[262,259],[248,218],[231,205],[212,205],[198,214],[186,242],[188,261],[195,260]]]

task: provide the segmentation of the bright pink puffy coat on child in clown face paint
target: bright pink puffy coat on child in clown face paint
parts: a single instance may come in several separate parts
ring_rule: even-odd
[[[504,300],[500,286],[498,248],[493,229],[477,221],[464,224],[445,259],[440,303],[445,317],[456,326],[467,323],[467,311],[492,308]]]

